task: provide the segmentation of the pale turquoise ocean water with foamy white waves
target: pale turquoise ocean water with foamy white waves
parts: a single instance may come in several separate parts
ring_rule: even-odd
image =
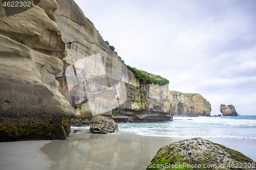
[[[256,140],[256,116],[174,117],[157,123],[119,123],[118,133],[175,138],[223,138]],[[90,126],[72,127],[90,129]]]

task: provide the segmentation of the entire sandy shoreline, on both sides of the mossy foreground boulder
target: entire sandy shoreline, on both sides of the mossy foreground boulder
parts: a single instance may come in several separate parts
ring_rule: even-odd
[[[71,133],[67,140],[0,143],[0,169],[145,169],[157,151],[183,138]],[[209,139],[256,160],[255,140]]]

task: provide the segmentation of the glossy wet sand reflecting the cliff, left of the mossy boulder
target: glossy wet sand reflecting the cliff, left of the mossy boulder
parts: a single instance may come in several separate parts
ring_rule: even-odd
[[[178,139],[176,139],[178,140]],[[48,169],[145,169],[157,151],[175,139],[136,134],[70,134],[41,149],[54,161]]]

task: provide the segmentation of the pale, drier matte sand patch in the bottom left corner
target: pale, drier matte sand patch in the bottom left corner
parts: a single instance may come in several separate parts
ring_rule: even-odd
[[[51,140],[0,142],[0,169],[47,169],[52,160],[41,152]]]

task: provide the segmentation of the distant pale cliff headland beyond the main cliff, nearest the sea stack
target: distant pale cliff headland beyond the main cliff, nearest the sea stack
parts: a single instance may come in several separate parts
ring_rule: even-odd
[[[170,91],[170,110],[175,116],[210,116],[211,105],[201,94]]]

